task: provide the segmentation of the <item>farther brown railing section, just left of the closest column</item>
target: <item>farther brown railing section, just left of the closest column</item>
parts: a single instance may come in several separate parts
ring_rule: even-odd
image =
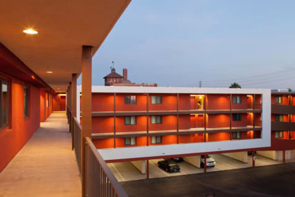
[[[82,175],[81,173],[81,133],[82,132],[82,127],[80,123],[78,122],[77,118],[73,118],[73,141],[74,141],[74,149],[75,149],[75,154],[76,154],[76,160],[78,163],[78,168],[80,172],[80,177]]]

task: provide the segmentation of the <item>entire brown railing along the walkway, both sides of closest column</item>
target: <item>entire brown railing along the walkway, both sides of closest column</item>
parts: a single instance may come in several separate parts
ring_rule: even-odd
[[[70,120],[70,123],[71,121],[73,123],[73,146],[81,177],[82,128],[75,117]],[[86,137],[85,142],[85,180],[85,196],[128,197],[89,137]]]

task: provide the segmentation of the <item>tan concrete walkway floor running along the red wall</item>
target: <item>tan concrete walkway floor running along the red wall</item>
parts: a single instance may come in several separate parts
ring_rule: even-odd
[[[81,196],[65,113],[52,113],[0,173],[0,196]]]

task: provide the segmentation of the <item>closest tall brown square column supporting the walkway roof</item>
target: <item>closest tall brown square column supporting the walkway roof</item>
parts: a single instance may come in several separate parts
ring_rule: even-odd
[[[91,138],[91,70],[92,46],[82,46],[82,133],[81,133],[81,172],[82,196],[86,195],[85,137]]]

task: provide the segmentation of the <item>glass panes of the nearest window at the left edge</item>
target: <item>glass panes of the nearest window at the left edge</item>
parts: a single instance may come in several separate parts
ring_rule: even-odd
[[[1,88],[1,105],[0,105],[0,127],[8,125],[9,117],[9,84],[6,79],[0,79]]]

